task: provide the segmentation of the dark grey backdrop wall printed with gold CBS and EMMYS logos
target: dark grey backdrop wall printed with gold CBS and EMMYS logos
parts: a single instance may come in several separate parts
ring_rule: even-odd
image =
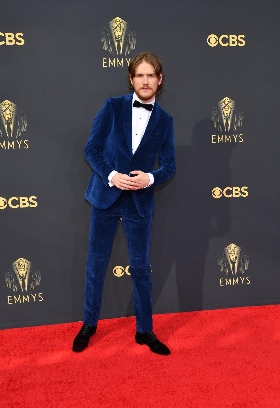
[[[2,5],[1,328],[82,319],[84,145],[142,51],[162,60],[176,140],[155,191],[154,313],[280,303],[277,15],[253,0]],[[131,315],[120,221],[101,318]]]

